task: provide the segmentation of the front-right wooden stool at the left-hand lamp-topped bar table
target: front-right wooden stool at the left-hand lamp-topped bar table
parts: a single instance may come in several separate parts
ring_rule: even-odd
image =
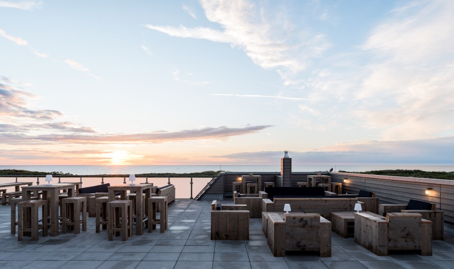
[[[68,226],[74,227],[74,234],[87,230],[87,198],[68,197],[62,200],[62,234],[66,234]],[[81,220],[82,210],[82,220]]]

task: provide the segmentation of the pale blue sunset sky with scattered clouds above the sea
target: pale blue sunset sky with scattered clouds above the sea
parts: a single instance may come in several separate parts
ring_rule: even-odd
[[[0,164],[453,165],[453,14],[0,0]]]

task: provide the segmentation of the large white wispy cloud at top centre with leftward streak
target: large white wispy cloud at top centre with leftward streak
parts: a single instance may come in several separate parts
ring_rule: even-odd
[[[149,29],[170,36],[199,38],[213,42],[230,43],[242,48],[252,61],[266,69],[276,69],[286,85],[303,71],[309,59],[318,57],[330,47],[322,34],[297,29],[286,19],[270,14],[262,6],[249,1],[201,0],[206,18],[218,23],[223,31],[211,28],[187,28],[180,25],[146,25]]]

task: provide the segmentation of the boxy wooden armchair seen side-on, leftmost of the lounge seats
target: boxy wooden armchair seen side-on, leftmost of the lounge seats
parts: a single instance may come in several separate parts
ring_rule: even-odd
[[[249,240],[249,210],[246,205],[211,203],[211,240]]]

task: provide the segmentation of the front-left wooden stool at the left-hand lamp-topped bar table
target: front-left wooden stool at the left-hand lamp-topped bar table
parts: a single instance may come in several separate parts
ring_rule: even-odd
[[[38,208],[42,208],[43,224],[39,225]],[[24,239],[24,232],[32,234],[32,241],[38,240],[38,230],[43,230],[43,237],[47,237],[47,201],[46,200],[29,200],[17,203],[18,226],[17,240]]]

